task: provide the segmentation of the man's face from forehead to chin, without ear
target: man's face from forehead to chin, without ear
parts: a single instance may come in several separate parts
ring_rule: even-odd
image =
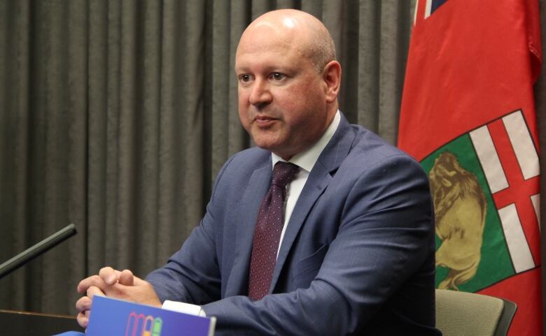
[[[330,122],[326,84],[294,33],[253,27],[235,60],[241,124],[258,147],[283,159],[315,143]]]

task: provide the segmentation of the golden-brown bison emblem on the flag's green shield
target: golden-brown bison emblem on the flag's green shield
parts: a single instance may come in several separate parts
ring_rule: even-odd
[[[438,288],[458,290],[476,274],[481,258],[486,212],[484,191],[477,177],[459,166],[457,157],[443,152],[428,174],[435,207],[435,231],[442,245],[436,266],[449,268]]]

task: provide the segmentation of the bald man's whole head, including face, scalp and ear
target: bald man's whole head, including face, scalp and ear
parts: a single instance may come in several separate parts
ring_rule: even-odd
[[[237,47],[239,118],[254,143],[283,159],[311,147],[337,111],[341,66],[324,25],[299,10],[254,20]]]

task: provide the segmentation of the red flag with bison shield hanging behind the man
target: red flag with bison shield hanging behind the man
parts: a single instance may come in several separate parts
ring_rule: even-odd
[[[506,298],[509,335],[542,335],[533,82],[537,0],[418,0],[398,145],[435,205],[436,286]]]

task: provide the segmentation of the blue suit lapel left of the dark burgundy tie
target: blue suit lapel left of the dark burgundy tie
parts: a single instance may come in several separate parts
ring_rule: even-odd
[[[246,295],[248,291],[248,268],[254,238],[254,226],[258,217],[258,210],[262,198],[271,184],[271,159],[268,164],[254,170],[248,180],[248,188],[241,198],[237,219],[240,224],[237,226],[237,248],[235,250],[234,263],[230,278],[225,289],[225,296]]]

